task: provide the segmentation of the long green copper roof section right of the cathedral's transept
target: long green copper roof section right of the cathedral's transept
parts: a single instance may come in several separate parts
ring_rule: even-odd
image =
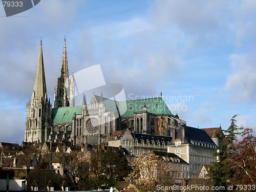
[[[134,113],[142,112],[144,104],[147,106],[148,113],[172,115],[161,97],[119,101],[118,103],[121,117],[132,117]],[[126,112],[125,107],[127,108]]]

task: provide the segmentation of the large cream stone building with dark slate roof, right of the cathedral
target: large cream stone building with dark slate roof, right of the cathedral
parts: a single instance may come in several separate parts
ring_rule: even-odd
[[[217,151],[217,145],[205,130],[182,125],[179,130],[173,130],[173,139],[167,151],[189,163],[189,177],[193,178],[200,173],[203,165],[216,161],[212,155]]]

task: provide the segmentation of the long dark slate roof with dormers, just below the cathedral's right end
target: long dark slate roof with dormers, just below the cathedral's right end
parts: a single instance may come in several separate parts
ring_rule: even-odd
[[[139,143],[141,142],[142,139],[144,140],[144,142],[149,140],[150,143],[152,143],[152,141],[155,141],[155,143],[157,141],[160,141],[161,143],[162,143],[162,141],[164,141],[165,143],[172,142],[172,137],[168,137],[168,136],[140,134],[140,133],[131,133],[131,134],[134,139],[138,140]]]

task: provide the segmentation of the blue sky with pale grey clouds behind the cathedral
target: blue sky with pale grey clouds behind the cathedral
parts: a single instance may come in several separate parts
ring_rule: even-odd
[[[41,35],[51,102],[66,35],[70,73],[100,64],[127,99],[162,92],[189,126],[226,129],[239,114],[255,128],[255,10],[254,0],[42,0],[6,17],[1,5],[0,141],[24,139]]]

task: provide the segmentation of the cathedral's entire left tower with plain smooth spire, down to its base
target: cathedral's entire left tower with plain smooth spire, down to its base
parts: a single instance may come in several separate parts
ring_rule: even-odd
[[[42,41],[37,59],[34,86],[31,100],[27,103],[25,120],[25,142],[45,142],[49,136],[52,106],[48,101]]]

